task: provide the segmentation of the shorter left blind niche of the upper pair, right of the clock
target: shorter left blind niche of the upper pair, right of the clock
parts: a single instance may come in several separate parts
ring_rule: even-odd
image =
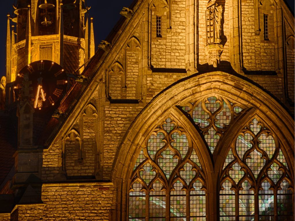
[[[120,62],[115,62],[108,71],[107,77],[109,99],[126,99],[125,71]]]

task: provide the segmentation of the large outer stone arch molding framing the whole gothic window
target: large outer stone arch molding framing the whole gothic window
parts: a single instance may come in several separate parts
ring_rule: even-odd
[[[114,194],[114,205],[117,207],[113,208],[114,211],[117,211],[116,220],[126,219],[126,197],[129,177],[134,168],[134,162],[137,159],[141,145],[144,143],[150,128],[153,128],[159,122],[159,118],[162,118],[167,113],[171,113],[173,107],[177,105],[183,106],[192,100],[197,100],[201,96],[214,96],[215,94],[237,101],[245,106],[253,107],[252,110],[249,109],[248,113],[245,113],[241,118],[246,121],[254,115],[254,112],[263,118],[266,125],[271,127],[273,131],[276,131],[281,144],[284,144],[282,151],[289,168],[291,170],[294,168],[294,120],[271,95],[253,85],[247,79],[242,79],[239,76],[225,72],[192,75],[171,85],[171,87],[157,95],[137,116],[125,135],[117,151],[112,173],[112,180],[117,190]],[[237,127],[242,127],[242,125]],[[202,154],[204,156],[205,151]],[[222,157],[220,156],[220,158]],[[217,160],[219,164],[221,164],[221,161],[222,159]],[[217,169],[218,171],[216,171]],[[208,179],[217,179],[218,174],[219,168],[215,168],[215,171],[211,172],[211,178],[208,175]],[[291,171],[291,176],[294,178],[294,170]],[[210,183],[209,180],[208,183]],[[211,188],[212,192],[208,201],[215,202],[215,205],[210,205],[208,208],[207,218],[208,220],[217,220],[216,199],[217,191],[219,190],[213,190],[213,186]]]

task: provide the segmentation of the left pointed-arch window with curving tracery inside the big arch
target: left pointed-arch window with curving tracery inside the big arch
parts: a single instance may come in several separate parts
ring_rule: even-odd
[[[137,159],[129,189],[129,220],[205,220],[204,173],[186,131],[166,119]]]

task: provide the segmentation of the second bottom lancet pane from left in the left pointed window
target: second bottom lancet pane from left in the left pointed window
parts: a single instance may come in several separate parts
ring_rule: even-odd
[[[153,184],[153,191],[150,192],[149,217],[165,218],[166,217],[166,196],[165,191],[161,191],[163,185],[160,182]]]

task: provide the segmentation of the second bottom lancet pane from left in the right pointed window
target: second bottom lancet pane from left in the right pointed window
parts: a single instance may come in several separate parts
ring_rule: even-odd
[[[250,190],[251,184],[246,180],[242,183],[239,192],[239,217],[240,220],[254,220],[254,192]]]

